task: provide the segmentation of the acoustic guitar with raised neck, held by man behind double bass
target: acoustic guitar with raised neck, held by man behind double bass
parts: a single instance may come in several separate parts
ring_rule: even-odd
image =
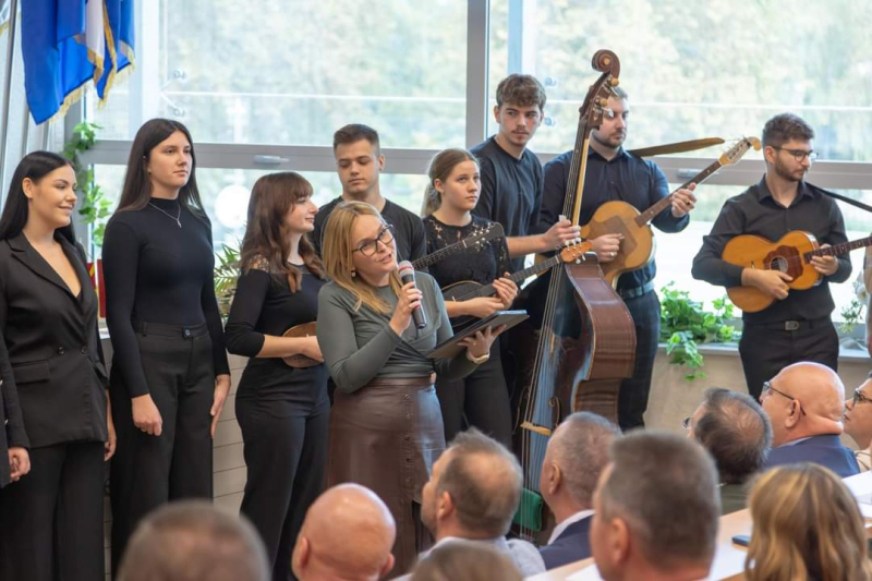
[[[620,250],[615,259],[601,263],[603,276],[613,288],[617,288],[618,277],[623,273],[637,270],[654,259],[654,232],[650,222],[673,203],[673,197],[678,190],[688,187],[691,183],[701,184],[724,166],[736,164],[751,148],[760,149],[760,140],[756,137],[742,137],[697,175],[681,184],[668,196],[664,197],[645,211],[640,213],[626,202],[606,202],[593,214],[591,221],[581,227],[582,238],[590,240],[603,234],[623,234]]]

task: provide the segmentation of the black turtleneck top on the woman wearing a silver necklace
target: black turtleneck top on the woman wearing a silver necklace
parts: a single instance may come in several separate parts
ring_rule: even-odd
[[[215,300],[215,255],[207,218],[182,208],[177,199],[155,197],[141,210],[119,211],[106,227],[102,265],[113,364],[121,368],[131,398],[149,392],[132,320],[206,323],[215,373],[230,373]]]

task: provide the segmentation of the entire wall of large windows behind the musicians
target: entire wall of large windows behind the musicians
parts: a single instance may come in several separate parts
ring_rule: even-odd
[[[338,195],[330,144],[350,122],[380,132],[383,192],[419,211],[427,159],[496,132],[494,93],[510,72],[545,85],[545,122],[531,148],[549,159],[574,143],[600,48],[621,60],[632,106],[628,147],[759,136],[766,119],[789,110],[818,133],[821,159],[809,180],[872,204],[870,3],[800,9],[761,0],[732,10],[680,0],[255,0],[242,14],[239,7],[138,2],[137,69],[107,107],[85,111],[104,126],[92,160],[111,195],[144,120],[169,117],[191,129],[217,244],[239,239],[251,187],[268,171],[302,172],[319,203]],[[656,161],[676,186],[725,147]],[[763,171],[753,152],[724,168],[700,189],[690,227],[657,234],[659,286],[675,280],[706,300],[723,294],[691,278],[692,256],[724,201]],[[840,207],[850,239],[872,231],[872,215]],[[851,258],[859,273],[862,252]],[[834,285],[833,293],[838,318],[853,292]]]

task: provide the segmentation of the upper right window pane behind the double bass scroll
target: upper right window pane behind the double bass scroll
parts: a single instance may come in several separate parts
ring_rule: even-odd
[[[872,161],[872,36],[860,25],[870,21],[872,3],[847,0],[796,10],[772,0],[739,10],[682,0],[536,2],[525,41],[554,124],[535,147],[571,148],[595,75],[591,56],[609,48],[630,95],[630,147],[760,135],[766,119],[789,110],[816,128],[822,159]]]

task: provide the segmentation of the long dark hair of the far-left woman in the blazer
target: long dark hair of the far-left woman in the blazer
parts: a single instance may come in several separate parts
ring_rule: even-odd
[[[15,238],[24,230],[27,223],[27,196],[24,195],[24,180],[29,178],[33,182],[38,182],[52,171],[63,166],[72,167],[66,159],[51,152],[33,152],[24,156],[12,174],[12,182],[9,184],[7,202],[3,206],[3,215],[0,216],[0,240]],[[56,232],[65,238],[70,244],[75,245],[75,232],[73,221],[68,226],[58,228]]]

